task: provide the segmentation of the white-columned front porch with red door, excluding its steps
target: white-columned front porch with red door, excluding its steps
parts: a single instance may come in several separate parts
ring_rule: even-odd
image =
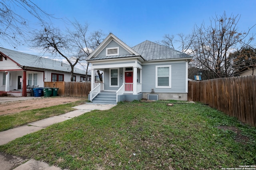
[[[126,59],[111,61],[111,63],[92,63],[91,74],[97,70],[103,72],[103,83],[95,83],[92,76],[91,91],[88,100],[93,100],[102,92],[114,92],[116,101],[133,101],[142,99],[142,64],[139,60]]]

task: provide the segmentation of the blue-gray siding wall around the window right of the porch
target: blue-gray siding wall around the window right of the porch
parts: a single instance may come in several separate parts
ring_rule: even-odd
[[[171,66],[171,88],[156,88],[156,66]],[[186,92],[186,63],[164,63],[142,66],[142,92],[149,93],[185,93]]]

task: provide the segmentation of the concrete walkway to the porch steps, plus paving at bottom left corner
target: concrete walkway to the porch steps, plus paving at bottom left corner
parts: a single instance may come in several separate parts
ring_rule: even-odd
[[[4,145],[18,137],[22,137],[29,133],[33,133],[44,129],[54,123],[59,123],[68,119],[72,119],[73,117],[82,115],[86,112],[98,109],[98,110],[108,110],[116,105],[113,104],[83,104],[79,106],[75,106],[73,108],[77,109],[75,111],[70,111],[63,115],[49,117],[47,119],[42,119],[40,121],[28,123],[27,125],[23,125],[20,127],[16,127],[13,129],[9,129],[7,131],[0,132],[0,145]],[[49,166],[45,162],[36,161],[34,159],[31,160],[17,158],[15,156],[10,156],[8,154],[0,153],[0,167],[1,170],[12,170],[16,166],[14,170],[61,170],[56,166]],[[25,162],[25,163],[24,163]],[[24,163],[24,164],[22,164]]]

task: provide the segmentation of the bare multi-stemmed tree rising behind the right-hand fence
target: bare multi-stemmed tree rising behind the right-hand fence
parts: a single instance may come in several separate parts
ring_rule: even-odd
[[[232,76],[232,61],[228,55],[236,49],[240,42],[245,41],[250,29],[247,32],[238,31],[240,17],[226,13],[210,19],[210,26],[202,23],[195,26],[192,36],[192,55],[194,60],[215,74],[215,78]],[[249,41],[252,39],[250,38]]]

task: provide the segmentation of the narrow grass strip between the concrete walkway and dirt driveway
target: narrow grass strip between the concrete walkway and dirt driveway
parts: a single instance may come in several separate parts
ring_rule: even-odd
[[[14,127],[25,125],[30,122],[46,119],[48,117],[61,115],[75,109],[71,108],[80,104],[84,104],[85,100],[71,102],[57,106],[44,107],[41,109],[32,109],[21,111],[19,113],[11,113],[0,115],[0,131],[6,131]]]

